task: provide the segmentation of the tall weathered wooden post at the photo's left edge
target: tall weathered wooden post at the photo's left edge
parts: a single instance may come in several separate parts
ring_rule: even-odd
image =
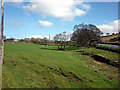
[[[4,0],[1,1],[1,64],[4,64]]]

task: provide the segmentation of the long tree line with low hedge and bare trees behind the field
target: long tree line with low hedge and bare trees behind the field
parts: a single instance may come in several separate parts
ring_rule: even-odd
[[[66,32],[56,34],[53,40],[47,38],[25,38],[21,42],[36,43],[41,45],[56,45],[59,50],[65,50],[66,46],[95,46],[100,42],[103,32],[92,24],[78,24],[73,27],[73,33],[68,35]]]

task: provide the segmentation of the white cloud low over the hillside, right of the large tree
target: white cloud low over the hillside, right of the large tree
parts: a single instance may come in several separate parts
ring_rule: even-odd
[[[97,27],[103,33],[110,33],[110,34],[112,34],[112,33],[118,33],[118,21],[120,21],[120,20],[112,21],[109,24],[97,25]],[[119,23],[119,25],[120,25],[120,23]]]

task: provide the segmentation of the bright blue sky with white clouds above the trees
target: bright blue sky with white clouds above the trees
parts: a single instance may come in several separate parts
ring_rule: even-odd
[[[118,2],[9,1],[4,5],[4,36],[7,38],[48,38],[49,35],[52,38],[64,31],[71,34],[74,25],[81,23],[96,25],[103,33],[118,32]]]

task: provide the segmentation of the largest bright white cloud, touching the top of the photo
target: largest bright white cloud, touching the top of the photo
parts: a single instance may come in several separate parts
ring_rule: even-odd
[[[78,8],[79,6],[81,9]],[[85,15],[90,5],[83,4],[81,0],[39,0],[39,2],[30,2],[23,8],[39,13],[43,17],[52,16],[62,20],[73,20],[76,16]]]

